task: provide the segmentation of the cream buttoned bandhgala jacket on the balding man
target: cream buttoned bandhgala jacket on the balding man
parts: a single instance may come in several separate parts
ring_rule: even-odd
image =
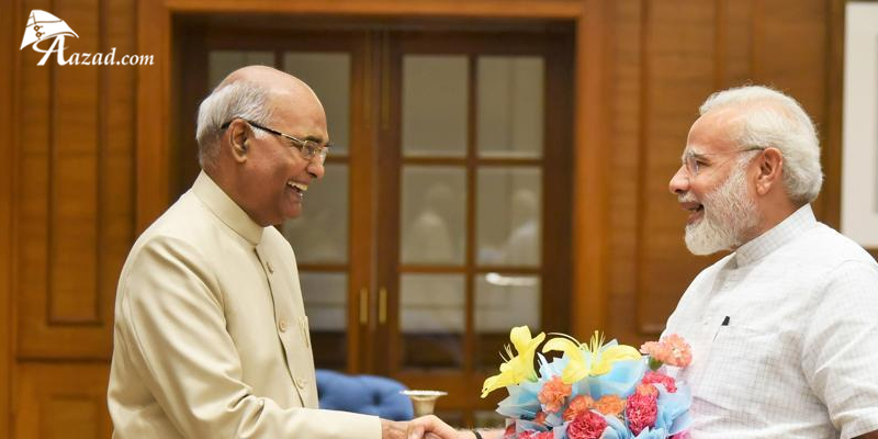
[[[317,409],[295,257],[207,175],[134,244],[119,280],[114,438],[380,438]]]

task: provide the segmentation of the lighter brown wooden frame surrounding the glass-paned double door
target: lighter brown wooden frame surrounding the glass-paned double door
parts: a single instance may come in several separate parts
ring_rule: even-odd
[[[604,327],[608,288],[606,170],[608,132],[611,3],[605,0],[165,0],[137,3],[137,48],[155,56],[156,65],[138,70],[136,144],[136,225],[140,232],[169,204],[168,145],[172,54],[171,19],[180,13],[286,13],[303,15],[453,19],[570,20],[574,37],[573,109],[573,255],[571,330],[585,335]],[[589,309],[576,313],[575,309]],[[600,309],[601,312],[595,312]]]

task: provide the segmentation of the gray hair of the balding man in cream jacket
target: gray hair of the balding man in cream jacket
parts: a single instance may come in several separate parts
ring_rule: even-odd
[[[199,143],[199,164],[213,164],[219,151],[221,126],[234,117],[254,121],[268,125],[271,109],[268,105],[269,91],[264,87],[248,82],[235,81],[219,85],[199,106],[199,122],[195,140]],[[261,130],[254,130],[257,137],[267,136]]]

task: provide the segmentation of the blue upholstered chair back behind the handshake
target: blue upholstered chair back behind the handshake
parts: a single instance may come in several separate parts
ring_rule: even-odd
[[[406,386],[384,376],[348,375],[317,369],[320,408],[374,415],[391,420],[415,417],[412,401],[401,395]]]

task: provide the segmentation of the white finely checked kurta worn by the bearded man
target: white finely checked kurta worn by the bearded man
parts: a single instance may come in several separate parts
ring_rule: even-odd
[[[702,271],[674,333],[693,345],[694,439],[878,430],[878,264],[809,205]]]

